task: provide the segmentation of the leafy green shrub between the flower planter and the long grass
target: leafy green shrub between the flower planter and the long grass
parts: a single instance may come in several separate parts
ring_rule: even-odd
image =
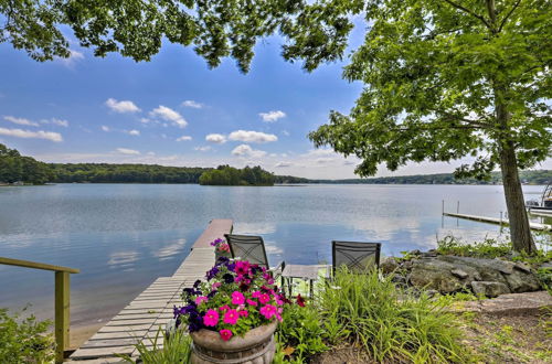
[[[309,356],[328,350],[323,342],[326,331],[320,322],[320,312],[312,303],[287,306],[282,318],[276,339],[279,352],[289,351],[288,360],[305,363]]]

